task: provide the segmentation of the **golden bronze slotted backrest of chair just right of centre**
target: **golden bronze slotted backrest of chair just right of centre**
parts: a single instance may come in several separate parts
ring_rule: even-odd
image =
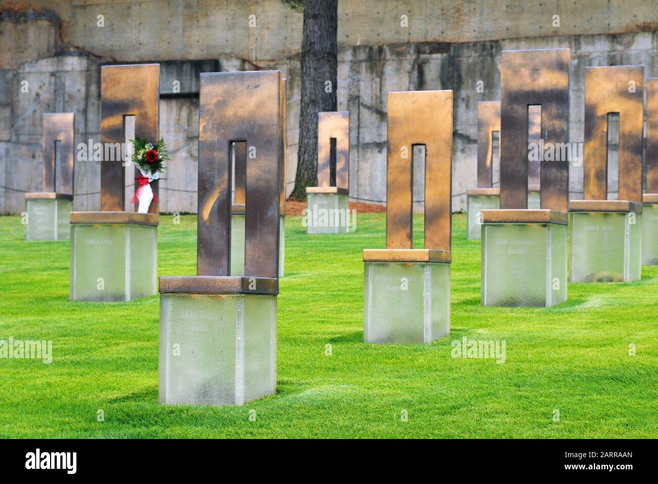
[[[413,249],[414,145],[425,145],[425,249],[450,250],[453,91],[388,93],[386,248]]]

